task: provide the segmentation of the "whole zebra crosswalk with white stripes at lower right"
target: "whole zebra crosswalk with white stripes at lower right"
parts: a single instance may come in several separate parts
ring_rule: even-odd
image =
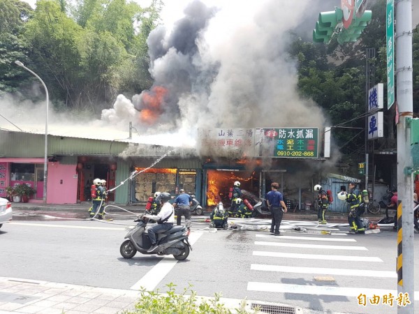
[[[272,293],[272,299],[298,306],[310,307],[315,303],[317,309],[332,313],[343,310],[339,309],[342,301],[346,313],[397,311],[396,300],[394,306],[360,304],[362,296],[366,300],[374,296],[381,296],[381,300],[397,296],[397,273],[394,264],[383,262],[381,257],[374,256],[374,251],[354,239],[359,236],[319,237],[291,232],[281,237],[254,236],[250,270],[257,280],[248,281],[249,292]],[[411,298],[418,300],[419,293]]]

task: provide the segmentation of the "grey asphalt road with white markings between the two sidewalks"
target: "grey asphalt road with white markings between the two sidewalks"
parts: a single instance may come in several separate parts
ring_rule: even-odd
[[[240,226],[242,220],[235,223]],[[249,223],[260,229],[269,220],[244,223],[247,230],[210,232],[203,218],[194,218],[193,251],[181,262],[140,253],[124,259],[119,246],[126,225],[134,224],[130,220],[13,220],[0,230],[0,276],[161,292],[174,283],[178,293],[191,285],[198,295],[221,292],[226,298],[328,313],[397,313],[396,306],[382,304],[384,296],[397,294],[396,233],[391,229],[365,236],[302,233],[293,227],[307,222],[294,222],[284,236],[274,237],[267,230],[249,230]],[[360,294],[367,296],[366,306],[358,304]],[[379,305],[369,301],[373,294],[381,297]]]

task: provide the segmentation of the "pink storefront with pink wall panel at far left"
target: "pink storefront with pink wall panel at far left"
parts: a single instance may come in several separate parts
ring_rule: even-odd
[[[6,187],[27,184],[36,190],[29,202],[43,202],[43,158],[0,158],[0,197],[6,197]],[[48,162],[47,203],[75,204],[78,174],[75,165]]]

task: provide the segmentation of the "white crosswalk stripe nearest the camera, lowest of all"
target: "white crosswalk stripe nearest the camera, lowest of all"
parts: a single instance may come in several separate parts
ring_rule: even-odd
[[[264,292],[283,292],[283,293],[299,293],[314,295],[339,295],[343,297],[358,297],[365,294],[367,297],[376,295],[384,295],[391,293],[397,295],[397,290],[372,289],[362,287],[333,287],[321,285],[291,285],[286,283],[258,283],[249,282],[247,290],[264,291]],[[419,300],[419,291],[415,291],[415,300]]]

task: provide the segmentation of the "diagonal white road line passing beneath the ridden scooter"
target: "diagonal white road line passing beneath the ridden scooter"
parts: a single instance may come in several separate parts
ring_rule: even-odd
[[[189,243],[191,246],[203,235],[202,232],[191,232],[189,235]],[[140,290],[141,287],[146,291],[153,291],[163,278],[175,267],[177,260],[172,256],[166,255],[163,260],[158,262],[147,274],[145,274],[139,281],[135,283],[130,289]]]

